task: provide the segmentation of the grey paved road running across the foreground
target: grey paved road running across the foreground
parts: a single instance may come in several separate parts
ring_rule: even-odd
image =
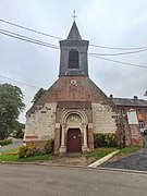
[[[0,164],[1,196],[146,196],[147,174]]]

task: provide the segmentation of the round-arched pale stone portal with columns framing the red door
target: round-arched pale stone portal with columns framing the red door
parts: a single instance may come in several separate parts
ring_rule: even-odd
[[[60,124],[62,128],[60,152],[66,152],[69,150],[69,145],[70,149],[75,149],[74,145],[76,144],[78,144],[78,150],[75,149],[73,151],[81,151],[79,149],[82,149],[82,151],[84,152],[88,150],[86,130],[88,120],[84,111],[64,111]]]

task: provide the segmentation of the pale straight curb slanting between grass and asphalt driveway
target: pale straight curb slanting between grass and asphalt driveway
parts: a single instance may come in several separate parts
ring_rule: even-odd
[[[119,154],[120,150],[115,150],[109,155],[107,155],[106,157],[102,157],[101,159],[93,162],[91,164],[88,166],[88,168],[97,168],[98,166],[102,164],[103,162],[106,162],[107,160],[109,160],[110,158],[112,158],[114,155]]]

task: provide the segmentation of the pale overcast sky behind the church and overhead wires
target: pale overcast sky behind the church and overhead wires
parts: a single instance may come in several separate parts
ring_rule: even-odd
[[[72,26],[72,12],[83,39],[90,45],[118,48],[147,46],[147,0],[0,0],[0,19],[65,39]],[[38,35],[0,22],[0,28],[59,46],[59,39]],[[89,47],[88,52],[118,53]],[[103,56],[100,56],[103,57]],[[21,87],[26,105],[35,93],[49,88],[58,78],[60,51],[0,34],[0,75],[26,83],[25,86],[0,76],[0,83]],[[147,66],[147,51],[105,58]],[[144,97],[147,69],[119,64],[88,57],[90,78],[109,96]],[[20,120],[25,122],[25,112]]]

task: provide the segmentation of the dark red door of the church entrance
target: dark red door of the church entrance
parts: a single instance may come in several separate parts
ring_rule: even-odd
[[[82,139],[79,128],[69,128],[66,150],[71,152],[82,151]]]

